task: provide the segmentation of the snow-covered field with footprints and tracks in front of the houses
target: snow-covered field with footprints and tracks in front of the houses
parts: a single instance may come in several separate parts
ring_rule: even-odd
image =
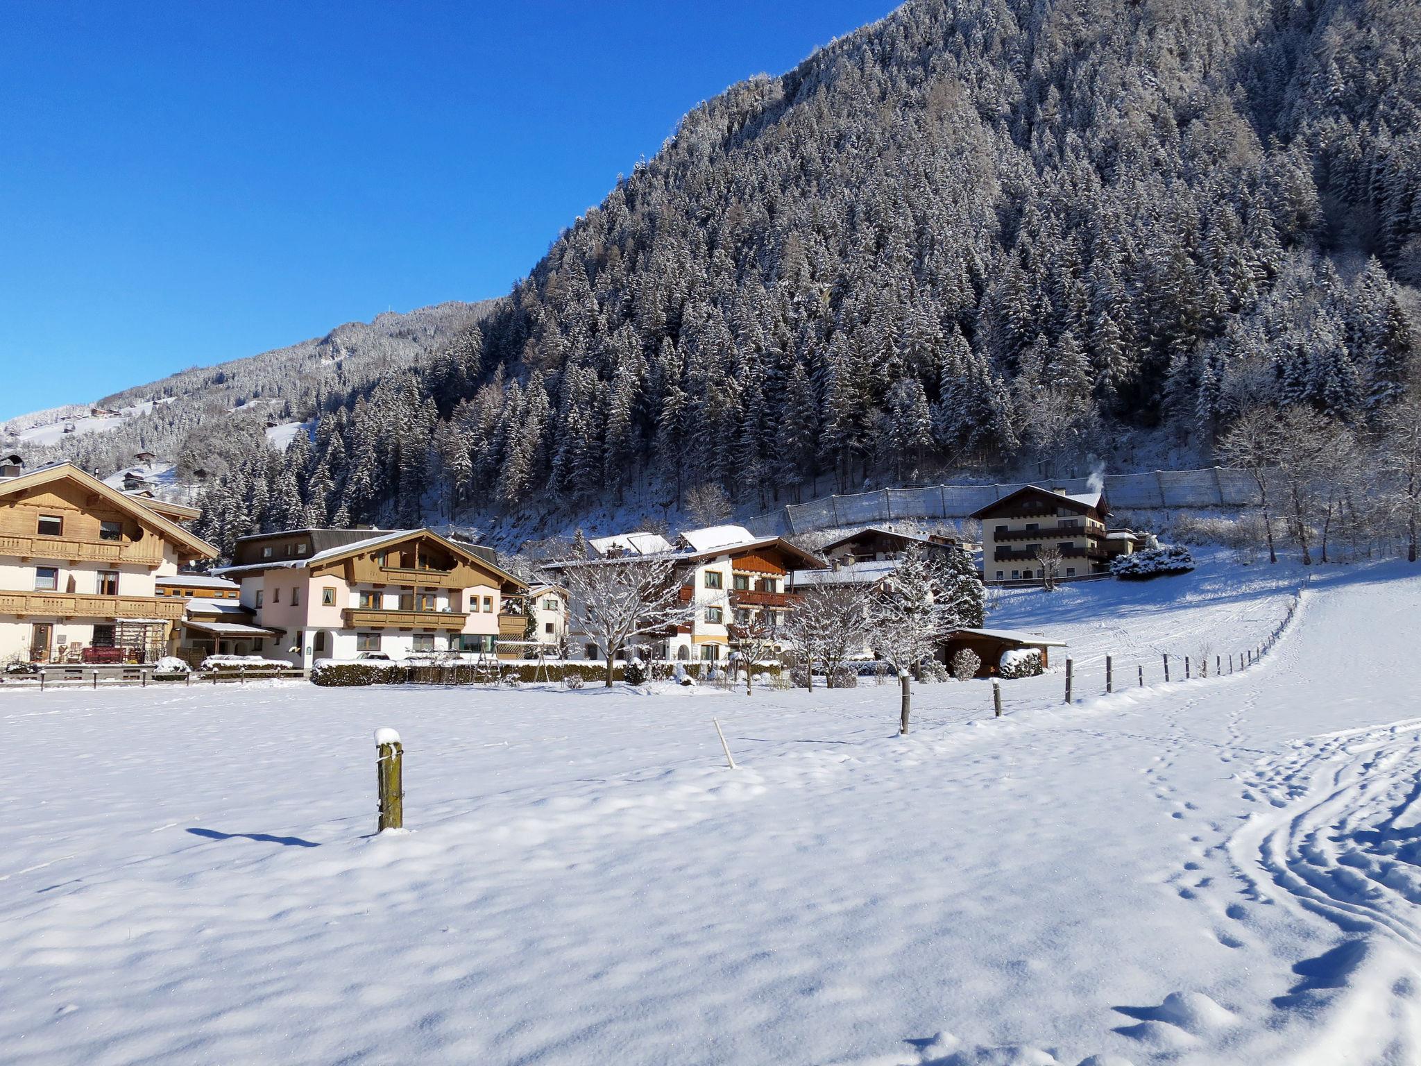
[[[1107,651],[1253,647],[1300,571],[1013,593],[1083,698],[922,685],[907,738],[871,682],[0,689],[0,1059],[1418,1062],[1410,573],[1113,696]]]

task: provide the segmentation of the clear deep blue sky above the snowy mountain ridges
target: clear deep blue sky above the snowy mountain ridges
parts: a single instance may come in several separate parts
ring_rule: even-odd
[[[502,296],[892,0],[0,4],[0,419]]]

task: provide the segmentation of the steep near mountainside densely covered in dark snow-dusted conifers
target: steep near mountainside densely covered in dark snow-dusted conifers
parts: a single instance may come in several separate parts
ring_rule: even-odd
[[[1418,0],[912,0],[686,115],[206,532],[1367,426],[1415,355],[1418,45]]]

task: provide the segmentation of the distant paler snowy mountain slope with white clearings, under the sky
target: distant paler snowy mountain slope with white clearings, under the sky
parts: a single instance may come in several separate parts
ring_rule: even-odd
[[[193,468],[226,472],[264,451],[269,421],[308,421],[338,409],[355,391],[445,350],[495,304],[450,301],[381,314],[371,323],[347,323],[286,348],[193,367],[95,401],[95,407],[122,412],[80,426],[95,432],[68,436],[55,429],[38,435],[53,441],[40,446],[27,443],[27,434],[21,434],[18,446],[31,466],[72,459],[84,469],[108,475],[146,451],[176,465],[179,478],[188,478]],[[61,422],[88,409],[88,404],[57,408],[7,425],[20,431],[50,414],[50,421]]]

